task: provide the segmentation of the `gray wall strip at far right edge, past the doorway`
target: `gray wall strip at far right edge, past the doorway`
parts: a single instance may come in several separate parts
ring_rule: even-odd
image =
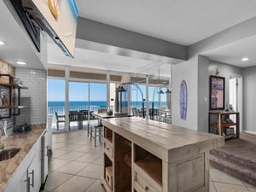
[[[243,127],[244,131],[256,134],[256,114],[255,108],[255,82],[256,82],[256,67],[247,67],[243,69]]]

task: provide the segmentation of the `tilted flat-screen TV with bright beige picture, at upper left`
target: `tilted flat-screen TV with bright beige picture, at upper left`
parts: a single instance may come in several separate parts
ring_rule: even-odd
[[[65,55],[73,57],[78,9],[75,0],[20,1],[24,10],[45,30]]]

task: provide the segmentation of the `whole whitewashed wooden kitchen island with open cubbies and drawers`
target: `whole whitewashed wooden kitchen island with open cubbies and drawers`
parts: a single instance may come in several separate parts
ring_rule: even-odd
[[[209,150],[224,137],[137,117],[102,125],[108,192],[209,191]]]

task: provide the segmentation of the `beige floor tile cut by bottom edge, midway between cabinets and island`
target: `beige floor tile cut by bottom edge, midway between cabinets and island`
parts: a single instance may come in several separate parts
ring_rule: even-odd
[[[67,182],[61,184],[54,192],[84,192],[95,179],[73,176]]]

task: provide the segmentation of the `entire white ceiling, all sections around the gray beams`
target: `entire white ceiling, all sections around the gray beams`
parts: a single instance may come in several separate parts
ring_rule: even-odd
[[[183,45],[194,44],[256,15],[255,0],[76,0],[76,2],[80,16]],[[20,25],[15,22],[3,1],[0,1],[0,25],[0,40],[6,42],[5,46],[0,46],[0,58],[15,67],[18,67],[15,61],[22,60],[27,61],[28,68],[44,68],[38,64],[35,48],[31,42],[28,43],[26,32],[24,29],[20,30]],[[76,46],[75,59],[72,60],[64,56],[55,45],[49,43],[49,63],[103,68],[111,71],[152,73],[147,70],[149,66],[154,68],[156,73],[156,67],[152,66],[157,66],[157,63],[153,65],[152,61],[141,57],[141,53],[139,56],[136,53],[136,56],[129,57],[115,55],[111,51],[102,53],[90,47],[80,46],[78,42]],[[250,38],[212,49],[204,55],[212,60],[248,67],[256,64],[253,54],[255,47],[256,38]],[[241,64],[240,60],[243,56],[248,56],[250,61]],[[168,66],[162,68],[163,75],[169,74],[165,70],[169,69]]]

